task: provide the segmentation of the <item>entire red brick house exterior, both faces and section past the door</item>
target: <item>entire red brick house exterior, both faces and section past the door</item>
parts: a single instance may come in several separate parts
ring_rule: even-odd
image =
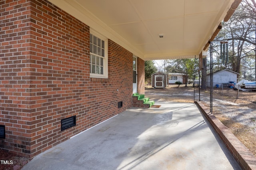
[[[3,0],[0,13],[0,148],[33,158],[132,107],[131,52],[108,40],[108,78],[93,78],[86,23],[46,0]],[[71,116],[76,126],[61,131]]]

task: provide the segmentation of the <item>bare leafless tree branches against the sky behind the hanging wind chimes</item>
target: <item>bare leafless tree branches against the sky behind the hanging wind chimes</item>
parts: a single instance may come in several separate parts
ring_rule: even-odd
[[[218,65],[218,68],[225,67],[240,73],[241,66],[244,64],[244,62],[241,63],[241,60],[246,61],[244,58],[255,56],[255,9],[255,0],[242,0],[230,20],[222,24],[222,30],[214,40],[214,53],[218,58],[215,64]],[[221,41],[228,42],[230,47],[228,51],[230,60],[224,64],[218,62],[220,61],[218,45]],[[254,74],[255,70],[256,68],[254,68]]]

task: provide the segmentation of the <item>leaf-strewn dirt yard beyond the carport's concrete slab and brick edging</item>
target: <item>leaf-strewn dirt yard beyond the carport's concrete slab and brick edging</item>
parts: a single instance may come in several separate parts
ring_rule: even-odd
[[[199,89],[192,85],[146,86],[145,96],[154,101],[193,103],[199,101]],[[200,101],[210,109],[210,89],[200,90]],[[212,113],[256,156],[256,92],[215,88],[212,106]]]

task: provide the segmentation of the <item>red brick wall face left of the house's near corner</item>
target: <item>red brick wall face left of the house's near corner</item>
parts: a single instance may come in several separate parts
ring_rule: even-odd
[[[6,126],[6,138],[0,147],[26,156],[30,153],[32,117],[36,103],[31,99],[36,93],[35,43],[31,38],[32,24],[29,2],[0,2],[0,124]],[[39,130],[39,129],[38,129]],[[41,128],[40,128],[41,130]]]

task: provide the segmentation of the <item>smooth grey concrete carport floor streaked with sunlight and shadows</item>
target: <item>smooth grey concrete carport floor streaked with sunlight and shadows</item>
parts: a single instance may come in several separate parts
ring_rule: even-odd
[[[23,170],[239,170],[194,103],[130,108],[36,156]]]

